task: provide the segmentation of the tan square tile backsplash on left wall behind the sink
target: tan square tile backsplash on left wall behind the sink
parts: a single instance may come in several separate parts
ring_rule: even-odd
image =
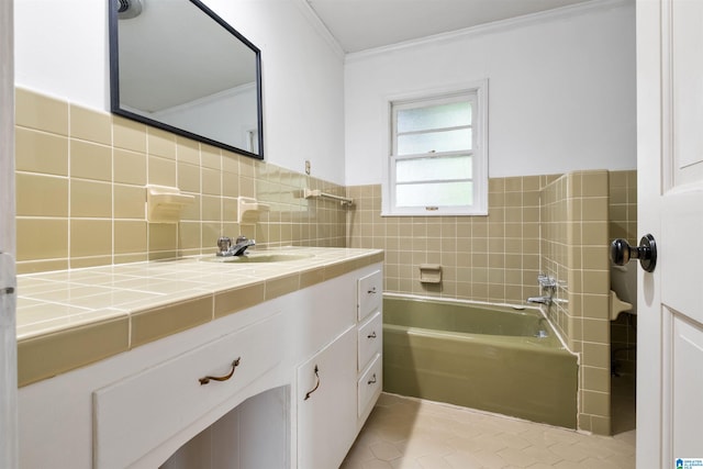
[[[302,198],[342,186],[30,90],[15,100],[20,273],[212,253],[221,235],[345,246],[347,211]],[[179,223],[149,223],[146,185],[194,203]],[[270,210],[238,224],[239,196]]]

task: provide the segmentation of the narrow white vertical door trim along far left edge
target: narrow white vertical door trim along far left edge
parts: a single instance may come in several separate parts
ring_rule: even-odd
[[[0,2],[0,468],[18,467],[12,0]]]

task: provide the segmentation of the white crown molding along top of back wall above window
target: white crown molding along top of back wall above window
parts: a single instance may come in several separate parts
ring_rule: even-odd
[[[304,1],[304,0],[303,0]],[[591,0],[583,3],[577,3],[568,7],[556,8],[553,10],[542,11],[538,13],[524,14],[522,16],[511,18],[507,20],[494,21],[492,23],[479,24],[477,26],[466,27],[462,30],[451,31],[448,33],[433,34],[419,40],[403,41],[388,46],[375,47],[366,51],[349,53],[345,56],[345,63],[353,63],[383,55],[397,51],[419,47],[427,44],[437,44],[442,42],[453,42],[465,40],[467,37],[480,36],[483,34],[496,33],[515,27],[538,24],[562,18],[574,16],[590,11],[605,10],[618,8],[626,4],[634,4],[634,0]],[[314,13],[313,13],[314,14]]]

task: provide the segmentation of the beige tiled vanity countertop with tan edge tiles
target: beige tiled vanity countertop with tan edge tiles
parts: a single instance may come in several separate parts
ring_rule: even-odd
[[[380,249],[287,247],[282,263],[204,257],[18,276],[20,387],[383,260]]]

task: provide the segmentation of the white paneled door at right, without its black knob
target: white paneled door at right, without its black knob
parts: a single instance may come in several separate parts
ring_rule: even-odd
[[[703,0],[637,1],[637,468],[677,468],[703,460]]]

